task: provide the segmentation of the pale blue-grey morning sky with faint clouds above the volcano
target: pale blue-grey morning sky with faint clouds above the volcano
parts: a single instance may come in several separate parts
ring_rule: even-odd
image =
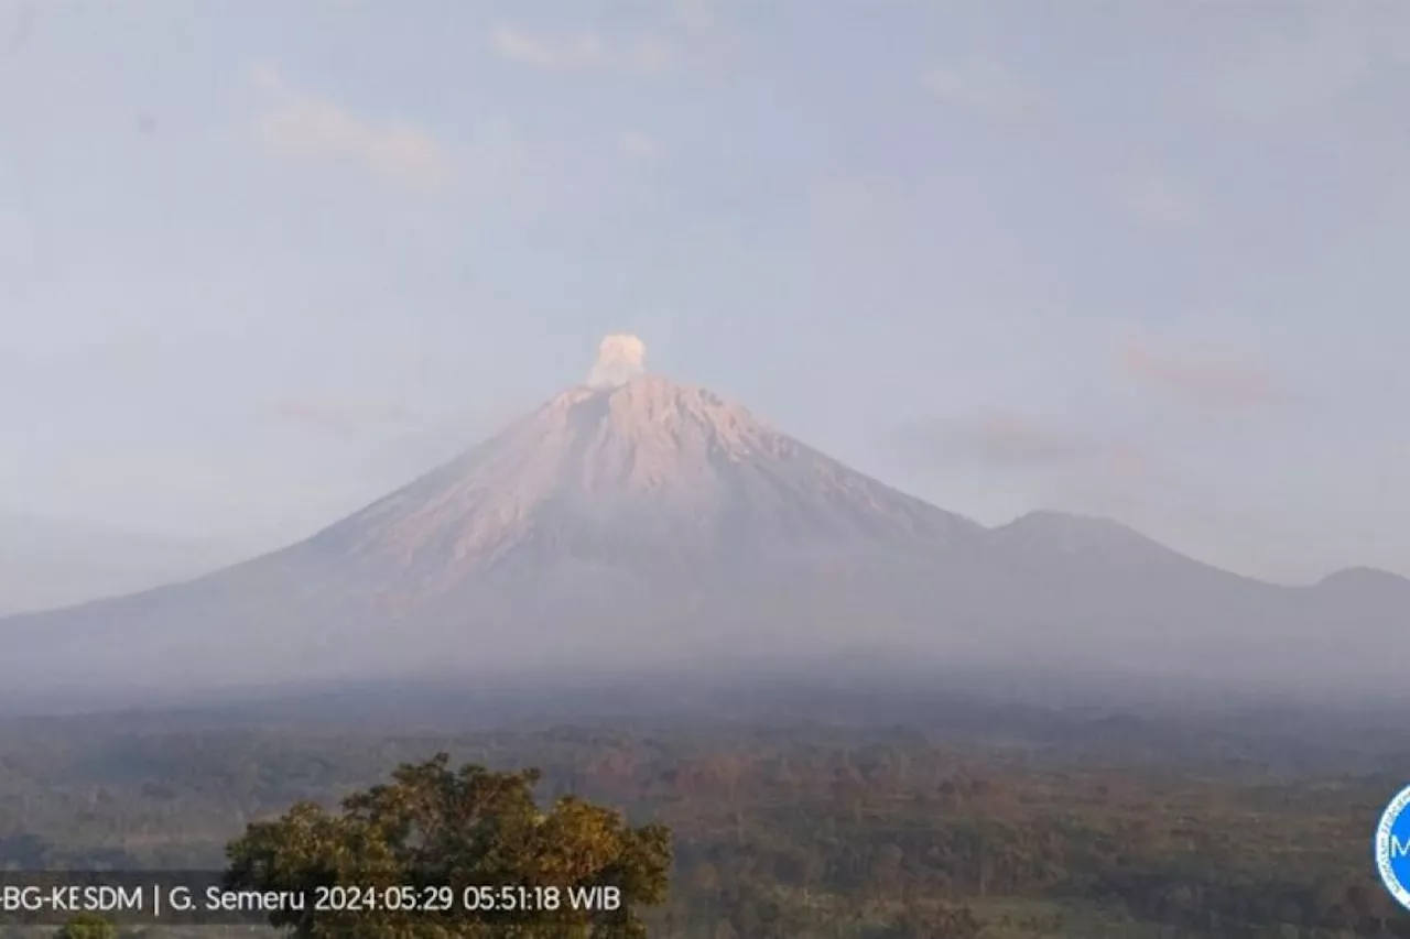
[[[1410,4],[0,0],[0,512],[274,547],[647,365],[1410,575]]]

